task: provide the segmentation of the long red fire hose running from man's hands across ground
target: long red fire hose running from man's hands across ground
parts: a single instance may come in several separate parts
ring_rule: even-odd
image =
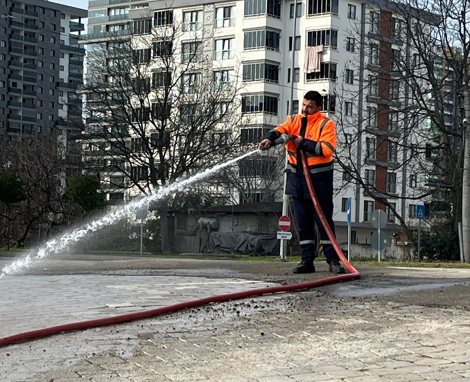
[[[268,288],[261,288],[261,289],[255,289],[255,290],[245,290],[243,292],[206,297],[206,298],[201,298],[199,300],[187,301],[187,302],[183,302],[180,304],[163,306],[161,308],[149,309],[149,310],[144,310],[141,312],[120,314],[114,317],[105,317],[105,318],[99,318],[96,320],[73,322],[70,324],[57,325],[57,326],[53,326],[50,328],[31,330],[29,332],[19,333],[13,336],[0,338],[0,346],[11,345],[20,341],[31,340],[34,338],[39,338],[39,337],[44,337],[44,336],[51,336],[53,334],[59,334],[63,332],[96,328],[99,326],[118,324],[121,322],[127,322],[127,321],[133,321],[133,320],[142,320],[145,318],[155,317],[155,316],[165,314],[165,313],[172,313],[172,312],[176,312],[182,309],[194,308],[196,306],[206,305],[206,304],[210,304],[214,302],[224,302],[224,301],[236,300],[240,298],[261,296],[264,294],[289,292],[292,290],[314,288],[318,286],[339,283],[341,281],[348,281],[348,280],[358,278],[360,275],[359,272],[347,261],[343,251],[341,250],[341,247],[339,246],[339,244],[336,241],[336,238],[333,235],[333,232],[329,228],[329,225],[325,219],[325,216],[323,215],[323,212],[321,211],[320,205],[318,204],[315,191],[313,190],[313,184],[312,184],[312,179],[310,178],[310,172],[307,167],[307,160],[305,157],[305,153],[302,153],[302,161],[303,161],[303,166],[304,166],[305,179],[307,180],[308,189],[310,191],[310,195],[312,196],[315,210],[320,216],[321,222],[327,231],[328,237],[331,240],[333,247],[335,248],[340,259],[343,261],[343,264],[345,265],[345,267],[349,270],[349,272],[351,272],[350,274],[337,275],[333,277],[327,277],[322,280],[309,281],[309,282],[300,283],[300,284],[282,285],[282,286],[277,286],[277,287],[271,287],[271,288],[268,287]]]

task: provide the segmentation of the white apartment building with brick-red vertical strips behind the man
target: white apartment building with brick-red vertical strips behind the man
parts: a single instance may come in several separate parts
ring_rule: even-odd
[[[414,138],[407,137],[411,117],[400,112],[400,99],[408,99],[402,97],[408,91],[394,78],[393,57],[408,59],[411,53],[400,31],[404,16],[395,12],[393,2],[378,0],[298,1],[296,18],[292,1],[91,0],[83,39],[102,42],[116,31],[129,36],[142,20],[150,20],[153,28],[174,23],[188,38],[194,31],[213,36],[213,70],[227,71],[243,84],[240,112],[250,115],[251,122],[243,127],[242,145],[257,143],[290,114],[291,81],[296,112],[305,92],[320,92],[324,112],[337,122],[338,156],[350,157],[364,182],[414,224],[413,211],[421,203],[403,198],[424,187],[425,179],[407,160],[408,140]],[[175,43],[184,43],[184,36]],[[399,124],[406,125],[405,134]],[[338,240],[346,240],[346,201],[352,198],[352,239],[370,243],[371,215],[381,205],[350,182],[342,166],[336,171]],[[391,237],[399,223],[388,207],[384,210]]]

